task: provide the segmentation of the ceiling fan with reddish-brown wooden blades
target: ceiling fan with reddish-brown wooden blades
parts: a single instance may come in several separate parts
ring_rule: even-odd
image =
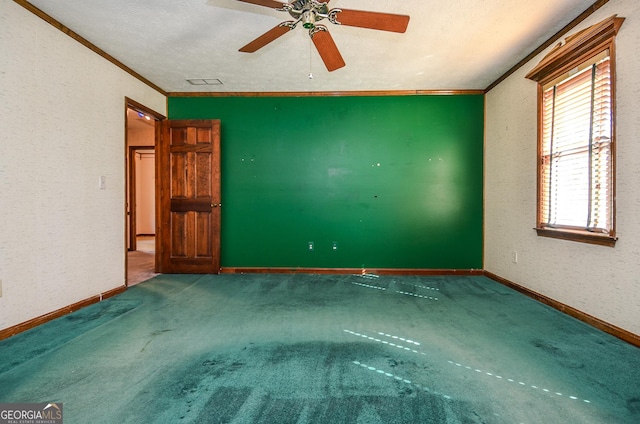
[[[316,46],[329,72],[342,68],[345,66],[345,63],[329,30],[326,26],[318,24],[318,21],[326,18],[329,22],[336,25],[348,25],[400,33],[405,32],[409,24],[409,16],[407,15],[338,8],[329,9],[327,3],[329,3],[330,0],[289,0],[287,3],[275,0],[238,1],[288,12],[294,19],[292,21],[282,22],[270,29],[242,47],[240,49],[241,52],[253,53],[291,31],[299,23],[302,23],[302,26],[309,30],[309,36],[313,40],[313,44]]]

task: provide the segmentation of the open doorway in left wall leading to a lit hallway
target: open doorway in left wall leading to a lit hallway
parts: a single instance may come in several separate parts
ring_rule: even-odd
[[[126,271],[127,286],[156,274],[156,123],[164,117],[126,99]]]

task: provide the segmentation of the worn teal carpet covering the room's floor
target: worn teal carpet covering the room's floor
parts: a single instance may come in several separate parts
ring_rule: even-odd
[[[640,349],[485,277],[161,275],[0,342],[71,423],[640,423]]]

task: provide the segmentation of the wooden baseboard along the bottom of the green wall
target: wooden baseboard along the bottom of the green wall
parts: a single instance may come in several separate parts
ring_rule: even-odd
[[[222,267],[221,274],[484,275],[481,269]]]

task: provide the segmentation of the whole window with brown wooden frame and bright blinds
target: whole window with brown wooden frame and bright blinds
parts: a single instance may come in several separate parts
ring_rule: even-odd
[[[615,16],[557,46],[538,82],[538,235],[615,244]]]

